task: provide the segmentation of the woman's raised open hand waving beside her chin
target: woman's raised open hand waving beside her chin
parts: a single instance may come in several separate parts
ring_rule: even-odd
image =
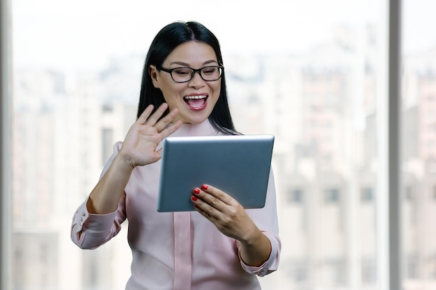
[[[162,148],[156,150],[157,145],[182,125],[180,120],[172,124],[178,113],[177,108],[159,120],[167,108],[168,105],[164,103],[152,114],[153,105],[149,105],[127,132],[119,154],[131,169],[158,161],[162,156]]]

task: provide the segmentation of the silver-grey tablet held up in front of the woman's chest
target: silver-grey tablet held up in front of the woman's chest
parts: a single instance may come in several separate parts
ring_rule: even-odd
[[[246,209],[265,206],[273,135],[167,137],[157,211],[194,211],[192,191],[215,186]]]

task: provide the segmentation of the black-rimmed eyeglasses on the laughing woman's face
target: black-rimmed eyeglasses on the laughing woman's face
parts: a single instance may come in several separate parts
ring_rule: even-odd
[[[201,79],[204,81],[217,81],[221,77],[224,67],[211,65],[208,67],[201,67],[198,70],[192,67],[176,67],[171,70],[167,70],[164,67],[157,67],[157,70],[162,70],[171,74],[171,79],[176,81],[176,83],[186,83],[187,81],[194,79],[194,74],[196,72],[200,74]]]

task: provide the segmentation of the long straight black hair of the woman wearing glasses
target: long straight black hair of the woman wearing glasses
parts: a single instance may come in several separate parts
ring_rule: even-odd
[[[142,72],[137,118],[139,118],[139,115],[141,115],[148,105],[153,104],[156,110],[157,107],[165,102],[162,91],[153,86],[148,67],[150,67],[150,65],[161,66],[166,57],[169,56],[178,45],[192,40],[210,45],[217,55],[218,63],[224,65],[217,38],[209,29],[203,26],[203,24],[198,22],[173,22],[166,25],[157,33],[148,50],[146,63],[144,64]],[[168,112],[167,110],[166,113]],[[219,98],[212,113],[210,113],[209,120],[212,126],[217,130],[226,134],[237,134],[231,118],[230,109],[228,108],[224,71],[221,76]]]

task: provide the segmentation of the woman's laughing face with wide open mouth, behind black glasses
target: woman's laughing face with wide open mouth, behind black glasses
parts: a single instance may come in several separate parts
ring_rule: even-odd
[[[189,41],[179,45],[162,63],[171,70],[176,67],[199,69],[208,65],[219,65],[215,51],[203,42]],[[176,83],[171,74],[159,71],[150,65],[149,72],[155,88],[162,90],[169,109],[178,108],[178,119],[185,124],[199,124],[205,121],[219,98],[221,79],[204,81],[199,72],[186,83]],[[176,122],[175,120],[174,122]]]

